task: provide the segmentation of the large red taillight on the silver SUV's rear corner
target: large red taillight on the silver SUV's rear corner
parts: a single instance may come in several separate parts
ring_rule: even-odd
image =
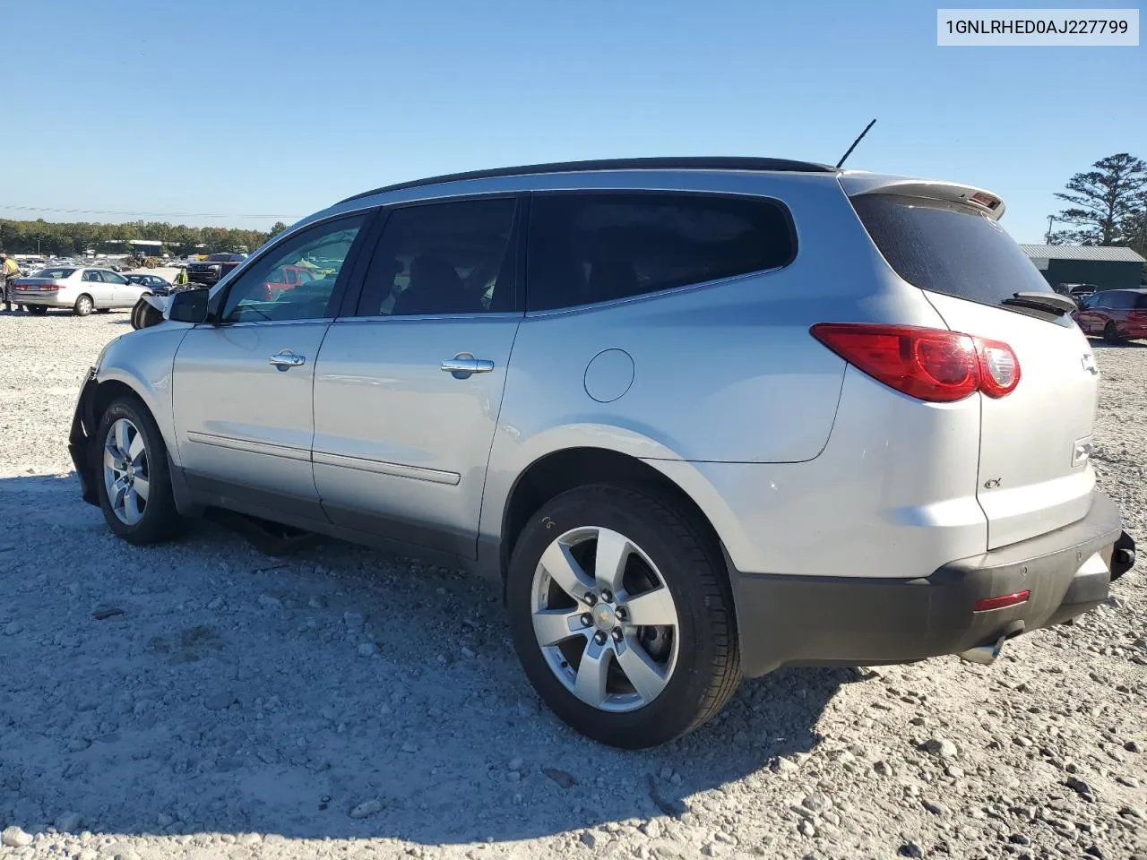
[[[920,326],[821,322],[812,336],[850,365],[910,397],[962,400],[976,391],[1004,397],[1020,382],[1006,343]]]

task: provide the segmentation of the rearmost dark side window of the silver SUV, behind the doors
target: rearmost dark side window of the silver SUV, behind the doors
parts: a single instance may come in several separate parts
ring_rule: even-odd
[[[548,311],[787,266],[796,240],[760,197],[539,194],[526,253],[526,307]]]

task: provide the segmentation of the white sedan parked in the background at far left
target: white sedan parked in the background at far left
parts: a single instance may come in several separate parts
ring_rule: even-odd
[[[133,307],[141,296],[151,290],[131,283],[110,268],[85,266],[49,266],[29,277],[11,282],[13,304],[24,305],[29,312],[45,314],[49,307],[70,308],[77,316],[92,311],[107,313],[114,307]]]

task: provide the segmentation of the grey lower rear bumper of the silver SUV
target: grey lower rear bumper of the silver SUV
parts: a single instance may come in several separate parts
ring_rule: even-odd
[[[1076,523],[918,579],[734,571],[744,673],[786,664],[911,663],[991,644],[1094,608],[1133,557],[1118,508],[1095,493]],[[1021,604],[974,609],[977,600],[1023,591],[1030,595]]]

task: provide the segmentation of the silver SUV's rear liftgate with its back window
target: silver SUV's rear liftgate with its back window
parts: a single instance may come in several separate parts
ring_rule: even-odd
[[[1052,290],[993,216],[958,201],[864,194],[861,221],[896,273],[924,291],[954,331],[1008,344],[1016,389],[981,398],[977,498],[989,548],[1083,518],[1099,370],[1070,314],[1001,304]]]

